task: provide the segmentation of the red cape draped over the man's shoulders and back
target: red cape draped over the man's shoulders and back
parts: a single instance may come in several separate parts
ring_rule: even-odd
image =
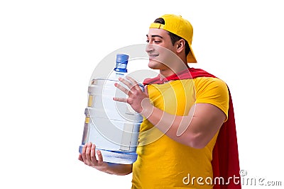
[[[163,80],[160,80],[160,76],[157,76],[153,79],[145,79],[143,84],[163,84],[165,81],[195,79],[197,77],[215,76],[202,69],[189,68],[181,71],[179,74],[168,76]],[[239,151],[236,139],[236,123],[230,91],[228,120],[223,123],[219,130],[217,141],[212,152],[212,168],[214,178],[224,178],[224,183],[221,179],[213,180],[213,183],[215,183],[214,189],[241,188],[241,177],[239,174]],[[219,181],[221,181],[221,184],[219,184]]]

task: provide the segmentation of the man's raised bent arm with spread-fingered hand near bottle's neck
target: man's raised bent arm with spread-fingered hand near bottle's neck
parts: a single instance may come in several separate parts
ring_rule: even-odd
[[[119,84],[115,85],[129,97],[114,98],[114,100],[129,103],[133,110],[141,113],[158,130],[176,142],[201,149],[214,137],[226,119],[226,115],[221,109],[209,103],[193,105],[186,116],[166,113],[151,104],[147,90],[141,91],[135,80],[131,77],[127,77],[127,79],[131,83],[125,79],[119,80],[126,84],[130,90]]]

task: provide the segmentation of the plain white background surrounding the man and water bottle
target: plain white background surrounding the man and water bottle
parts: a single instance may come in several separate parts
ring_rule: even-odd
[[[282,4],[1,1],[0,188],[130,188],[131,175],[110,176],[77,160],[87,86],[102,58],[145,43],[148,25],[164,13],[192,23],[199,62],[192,66],[231,89],[246,178],[284,185]]]

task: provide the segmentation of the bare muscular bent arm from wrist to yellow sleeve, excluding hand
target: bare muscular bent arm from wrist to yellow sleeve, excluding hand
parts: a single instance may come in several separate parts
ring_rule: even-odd
[[[209,103],[193,105],[187,116],[171,115],[145,103],[141,114],[171,139],[197,149],[210,142],[226,119],[222,110]]]

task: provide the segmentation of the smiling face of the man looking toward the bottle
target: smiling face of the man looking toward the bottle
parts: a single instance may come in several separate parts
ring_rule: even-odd
[[[168,31],[158,28],[150,28],[147,36],[148,67],[151,69],[168,69],[170,62],[175,57],[174,46],[170,40]]]

